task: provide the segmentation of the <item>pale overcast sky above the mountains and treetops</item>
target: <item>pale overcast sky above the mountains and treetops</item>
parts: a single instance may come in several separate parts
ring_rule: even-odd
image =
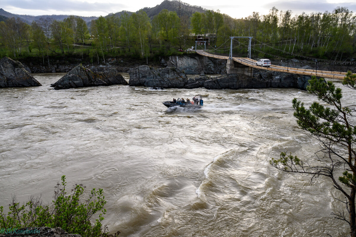
[[[99,2],[100,1],[100,2]],[[154,7],[163,0],[0,0],[0,8],[14,14],[26,15],[78,15],[106,16],[111,12],[137,11],[143,7]],[[348,7],[356,12],[356,0],[185,0],[190,5],[220,10],[234,18],[247,17],[253,11],[268,14],[273,6],[278,10],[292,10],[292,16],[303,11],[333,11],[335,7]],[[265,3],[264,3],[265,2]]]

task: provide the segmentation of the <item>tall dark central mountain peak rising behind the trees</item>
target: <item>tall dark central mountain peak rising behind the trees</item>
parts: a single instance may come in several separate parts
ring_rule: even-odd
[[[168,11],[175,11],[179,16],[179,2],[180,2],[180,15],[187,15],[188,17],[192,16],[194,12],[204,13],[206,10],[199,6],[191,6],[185,2],[181,1],[168,1],[164,0],[161,4],[155,7],[145,7],[142,10],[147,13],[147,16],[151,19],[158,15],[163,9],[167,9]]]

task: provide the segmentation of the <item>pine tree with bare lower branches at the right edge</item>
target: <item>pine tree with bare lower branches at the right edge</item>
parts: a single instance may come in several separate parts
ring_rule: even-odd
[[[341,89],[323,78],[312,77],[308,90],[318,99],[332,106],[314,102],[309,109],[304,103],[293,99],[294,116],[300,128],[310,132],[320,142],[321,150],[316,153],[318,165],[310,165],[297,156],[282,152],[279,159],[272,158],[271,165],[279,170],[312,175],[311,183],[320,175],[328,177],[334,188],[344,195],[345,210],[332,213],[335,218],[346,221],[351,237],[356,236],[356,123],[355,105],[341,105]],[[342,84],[356,90],[356,75],[348,72]],[[342,174],[337,178],[338,175]]]

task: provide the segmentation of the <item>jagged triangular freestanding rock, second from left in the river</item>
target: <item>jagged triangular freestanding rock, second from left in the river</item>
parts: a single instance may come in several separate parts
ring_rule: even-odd
[[[90,69],[85,69],[83,66],[78,65],[51,86],[54,87],[55,90],[59,90],[87,86],[127,84],[127,81],[116,69],[108,69],[104,72],[91,72]]]

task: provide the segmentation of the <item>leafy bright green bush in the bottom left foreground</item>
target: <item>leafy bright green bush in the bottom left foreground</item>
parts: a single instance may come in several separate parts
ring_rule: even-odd
[[[106,213],[103,189],[92,189],[87,199],[82,200],[85,186],[75,184],[67,193],[66,183],[63,175],[62,182],[54,187],[52,205],[43,205],[41,197],[30,197],[26,204],[20,205],[13,196],[7,214],[4,207],[0,207],[0,228],[48,226],[61,227],[68,233],[83,237],[108,236],[108,228],[101,224]],[[93,215],[97,215],[97,218],[91,223]]]

